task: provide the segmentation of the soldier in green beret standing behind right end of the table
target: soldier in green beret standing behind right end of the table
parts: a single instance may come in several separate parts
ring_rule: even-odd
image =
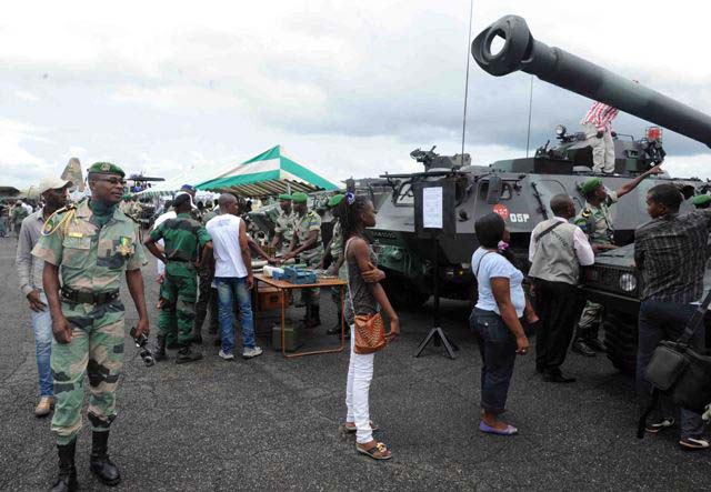
[[[308,268],[316,269],[323,258],[323,243],[321,242],[321,218],[313,210],[309,210],[306,193],[294,193],[292,195],[294,217],[293,238],[289,251],[283,260],[300,258]],[[321,324],[319,308],[319,289],[302,289],[303,302],[307,305],[304,324],[313,328]]]

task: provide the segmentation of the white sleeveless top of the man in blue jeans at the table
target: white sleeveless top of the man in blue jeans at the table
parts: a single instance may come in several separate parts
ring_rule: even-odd
[[[240,249],[240,223],[242,220],[231,213],[213,217],[206,224],[212,238],[214,253],[214,277],[243,279],[247,267]]]

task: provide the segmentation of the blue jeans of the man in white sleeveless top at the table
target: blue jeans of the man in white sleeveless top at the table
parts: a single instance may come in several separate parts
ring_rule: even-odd
[[[222,352],[232,353],[234,349],[234,312],[232,305],[237,300],[240,308],[240,324],[242,324],[242,345],[254,348],[254,320],[252,319],[252,298],[247,289],[247,277],[216,277],[218,289],[218,313],[220,319],[220,337]]]

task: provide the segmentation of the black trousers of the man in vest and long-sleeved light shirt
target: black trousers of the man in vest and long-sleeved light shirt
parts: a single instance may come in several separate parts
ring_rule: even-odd
[[[582,311],[575,285],[533,279],[535,312],[540,318],[535,334],[535,368],[557,373],[565,361],[575,322]]]

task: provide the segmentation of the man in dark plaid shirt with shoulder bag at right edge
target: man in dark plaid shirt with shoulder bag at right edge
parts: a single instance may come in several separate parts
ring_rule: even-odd
[[[707,243],[711,231],[711,210],[679,215],[683,197],[673,184],[659,184],[647,194],[647,212],[652,220],[634,234],[634,261],[641,273],[642,303],[639,318],[637,389],[644,402],[650,385],[644,379],[647,365],[662,340],[681,335],[703,295],[703,274],[709,258]],[[703,347],[704,327],[700,327],[692,347]],[[647,431],[660,432],[674,423],[673,409],[664,402],[661,415]],[[681,409],[679,444],[689,450],[709,448],[703,436],[701,415]]]

